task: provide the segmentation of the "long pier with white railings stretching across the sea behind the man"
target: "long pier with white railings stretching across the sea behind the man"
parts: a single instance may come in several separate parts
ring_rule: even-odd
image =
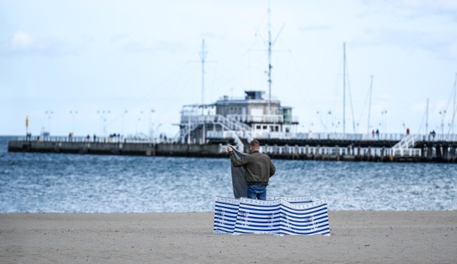
[[[225,141],[224,141],[225,140]],[[323,161],[457,162],[457,136],[320,133],[308,137],[260,138],[261,151],[272,158]],[[221,142],[224,141],[224,142]],[[79,153],[136,156],[226,157],[226,145],[155,142],[151,138],[18,137],[9,141],[11,152]],[[243,150],[248,151],[248,150]]]

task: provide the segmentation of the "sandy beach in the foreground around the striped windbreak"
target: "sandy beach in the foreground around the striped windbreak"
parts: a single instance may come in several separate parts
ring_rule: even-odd
[[[222,235],[214,213],[0,214],[0,263],[457,263],[457,211],[329,212],[323,235]]]

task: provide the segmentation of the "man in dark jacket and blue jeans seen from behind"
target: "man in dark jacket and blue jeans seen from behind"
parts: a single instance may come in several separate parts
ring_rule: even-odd
[[[240,160],[236,160],[231,146],[227,147],[233,166],[244,166],[246,183],[248,184],[247,197],[266,200],[266,186],[268,186],[268,180],[275,173],[276,167],[268,155],[258,152],[260,143],[255,139],[251,141],[249,149],[251,150],[251,154],[244,156]]]

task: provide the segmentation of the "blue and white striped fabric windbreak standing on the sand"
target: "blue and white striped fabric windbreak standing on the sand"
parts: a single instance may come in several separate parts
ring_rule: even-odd
[[[216,197],[214,233],[330,235],[325,199],[313,196],[267,200]]]

